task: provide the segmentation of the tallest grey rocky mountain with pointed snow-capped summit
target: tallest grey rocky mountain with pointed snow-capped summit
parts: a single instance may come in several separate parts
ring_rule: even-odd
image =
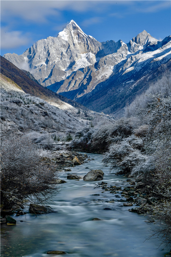
[[[100,48],[101,43],[87,36],[72,20],[57,37],[37,41],[22,55],[8,53],[4,57],[47,86],[66,79],[75,69],[95,63]]]

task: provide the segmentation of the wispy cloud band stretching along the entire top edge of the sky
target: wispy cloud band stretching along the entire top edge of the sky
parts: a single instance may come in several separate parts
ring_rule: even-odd
[[[159,3],[158,3],[159,2]],[[139,5],[141,4],[141,5]],[[86,12],[93,10],[94,14],[104,13],[107,9],[116,6],[125,6],[129,13],[137,11],[140,13],[154,13],[161,9],[170,7],[170,1],[72,1],[72,0],[3,0],[1,1],[1,19],[7,21],[13,17],[22,18],[25,21],[46,23],[48,17],[55,16],[57,21],[62,19],[62,11],[72,10],[75,12]],[[124,11],[125,14],[128,14]],[[112,14],[111,14],[112,15]],[[121,18],[123,12],[113,12],[113,16]],[[120,17],[119,17],[120,16]],[[93,18],[92,18],[93,19]]]

